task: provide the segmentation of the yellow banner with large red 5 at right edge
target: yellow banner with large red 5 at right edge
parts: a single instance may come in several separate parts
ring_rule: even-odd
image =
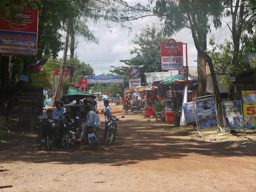
[[[256,91],[242,91],[244,128],[256,129]]]

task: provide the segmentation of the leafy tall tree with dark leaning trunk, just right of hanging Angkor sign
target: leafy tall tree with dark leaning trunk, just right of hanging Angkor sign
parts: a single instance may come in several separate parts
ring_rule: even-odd
[[[153,1],[152,1],[153,2]],[[192,33],[195,47],[198,51],[198,81],[199,95],[206,94],[206,62],[209,65],[214,91],[219,103],[222,101],[215,76],[214,65],[207,49],[207,34],[210,32],[210,18],[216,29],[221,27],[221,17],[226,0],[200,1],[200,0],[159,0],[154,7],[154,13],[164,20],[164,34],[172,36],[182,29],[188,28]]]

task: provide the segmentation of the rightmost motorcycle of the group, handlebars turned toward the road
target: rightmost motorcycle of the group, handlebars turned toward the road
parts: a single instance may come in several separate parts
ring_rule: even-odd
[[[103,113],[106,117],[111,119],[110,121],[106,122],[105,129],[107,129],[108,132],[105,132],[103,137],[105,146],[109,146],[116,138],[117,126],[118,126],[117,121],[121,121],[121,120],[120,118],[117,118],[115,116],[110,116],[109,109],[104,108],[101,111],[101,113]],[[124,116],[122,116],[121,118],[124,118]]]

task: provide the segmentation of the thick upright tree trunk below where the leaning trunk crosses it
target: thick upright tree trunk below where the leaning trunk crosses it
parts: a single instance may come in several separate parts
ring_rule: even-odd
[[[205,57],[198,52],[197,54],[197,70],[198,70],[198,93],[199,96],[206,95],[206,60]]]

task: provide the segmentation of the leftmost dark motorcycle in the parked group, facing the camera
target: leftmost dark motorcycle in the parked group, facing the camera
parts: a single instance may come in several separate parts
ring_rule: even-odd
[[[42,138],[40,141],[40,146],[45,146],[45,150],[52,150],[54,144],[54,135],[56,133],[56,123],[57,120],[54,119],[42,119],[41,121],[46,121],[47,125],[42,133]]]

